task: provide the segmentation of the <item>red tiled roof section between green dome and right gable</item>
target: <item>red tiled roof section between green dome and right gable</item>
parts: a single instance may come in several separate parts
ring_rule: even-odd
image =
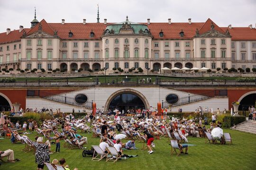
[[[142,23],[147,25],[146,23]],[[203,23],[150,23],[148,28],[150,29],[151,34],[154,38],[161,38],[161,39],[190,39],[195,36],[196,28],[200,28]],[[161,30],[164,33],[164,37],[160,37],[159,33]],[[180,32],[183,30],[184,36],[180,36]]]

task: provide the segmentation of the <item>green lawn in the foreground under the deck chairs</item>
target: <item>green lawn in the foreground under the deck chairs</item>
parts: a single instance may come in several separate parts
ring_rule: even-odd
[[[170,156],[171,146],[166,143],[166,138],[155,140],[155,153],[149,155],[147,151],[124,151],[126,154],[138,154],[136,158],[121,160],[116,163],[91,161],[91,156],[82,157],[82,150],[67,150],[61,143],[61,152],[50,155],[53,159],[65,158],[71,170],[77,167],[79,170],[253,170],[256,167],[256,135],[235,130],[224,129],[232,136],[233,145],[205,144],[204,138],[189,137],[190,146],[187,155]],[[91,138],[90,134],[82,134],[88,137],[89,144],[99,144],[99,138]],[[30,139],[35,137],[35,132],[28,135]],[[123,141],[125,142],[125,141]],[[136,143],[138,148],[141,143]],[[15,158],[21,159],[16,163],[3,163],[0,170],[36,170],[35,155],[31,152],[24,153],[21,150],[24,144],[11,144],[9,139],[0,140],[0,150],[14,150]],[[52,151],[55,145],[52,145]],[[6,158],[5,158],[6,159]],[[45,169],[47,169],[45,167]]]

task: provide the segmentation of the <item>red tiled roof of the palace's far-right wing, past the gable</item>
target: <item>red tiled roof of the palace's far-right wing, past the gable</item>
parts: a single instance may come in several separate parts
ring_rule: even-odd
[[[256,29],[249,27],[221,27],[223,30],[229,30],[232,40],[256,41]]]

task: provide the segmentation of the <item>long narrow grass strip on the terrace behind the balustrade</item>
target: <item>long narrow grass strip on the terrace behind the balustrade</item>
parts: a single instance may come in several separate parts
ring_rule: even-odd
[[[99,81],[101,83],[105,83],[105,76],[97,76]],[[124,79],[126,76],[106,76],[106,82],[111,82],[111,80],[117,80],[120,82],[122,79]],[[152,82],[155,82],[156,76],[128,76],[128,78],[131,78],[130,81],[136,82],[137,78],[138,79],[143,79],[147,77],[150,77],[152,79]],[[169,76],[158,76],[161,78],[162,81],[185,81],[184,77],[169,77]],[[28,78],[16,78],[16,81],[23,81],[25,82],[27,79],[27,82],[38,82],[38,79],[40,79],[41,82],[47,82],[47,81],[56,81],[56,82],[66,82],[66,78],[52,78],[52,77],[28,77]],[[187,81],[205,81],[209,80],[211,81],[216,80],[216,81],[223,81],[224,79],[226,80],[236,80],[236,77],[187,77]],[[96,76],[87,76],[87,77],[74,77],[74,78],[68,78],[68,81],[70,82],[92,82],[96,80]]]

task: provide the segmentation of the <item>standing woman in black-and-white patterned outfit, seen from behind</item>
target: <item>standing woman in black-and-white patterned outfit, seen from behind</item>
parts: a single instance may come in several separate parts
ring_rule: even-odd
[[[50,163],[50,154],[48,150],[48,145],[43,143],[43,137],[37,138],[37,145],[36,145],[36,163],[37,163],[37,170],[44,169],[44,162]]]

